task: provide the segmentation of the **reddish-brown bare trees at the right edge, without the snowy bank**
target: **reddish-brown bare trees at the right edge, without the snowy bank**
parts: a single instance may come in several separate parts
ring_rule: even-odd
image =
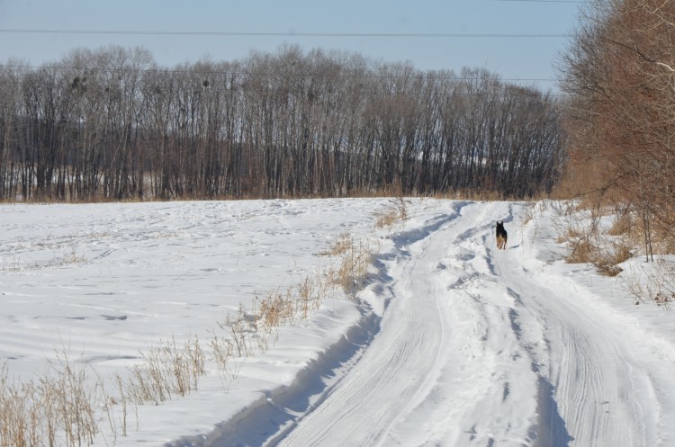
[[[563,56],[572,192],[635,211],[648,259],[675,246],[675,2],[593,0]]]

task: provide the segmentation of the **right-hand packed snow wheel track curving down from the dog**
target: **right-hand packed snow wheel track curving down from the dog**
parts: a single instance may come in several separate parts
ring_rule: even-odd
[[[543,388],[550,389],[540,396],[540,413],[553,405],[560,417],[541,418],[535,445],[657,445],[644,409],[658,407],[658,402],[621,328],[584,307],[579,291],[569,284],[552,282],[549,275],[545,282],[527,270],[522,253],[507,250],[495,254],[494,261],[500,281],[516,300],[515,324],[537,327],[521,338],[524,344],[538,346],[530,353],[545,380]]]

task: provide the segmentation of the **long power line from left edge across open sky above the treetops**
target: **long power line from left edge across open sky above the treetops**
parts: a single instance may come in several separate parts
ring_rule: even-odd
[[[505,1],[505,0],[499,0]],[[514,0],[509,0],[514,1]],[[520,0],[526,1],[526,0]],[[534,1],[534,0],[532,0]],[[544,1],[544,0],[537,0]],[[553,1],[553,0],[549,0]],[[563,0],[556,0],[563,1]],[[421,38],[421,39],[556,39],[569,34],[554,33],[443,33],[443,32],[241,32],[241,31],[133,31],[133,30],[20,30],[0,29],[7,34],[116,34],[153,36],[221,36],[221,37],[340,37],[340,38]]]

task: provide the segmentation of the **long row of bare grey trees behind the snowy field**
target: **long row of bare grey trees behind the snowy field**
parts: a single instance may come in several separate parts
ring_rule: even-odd
[[[121,200],[548,192],[551,94],[287,46],[158,67],[145,49],[0,65],[0,198]]]

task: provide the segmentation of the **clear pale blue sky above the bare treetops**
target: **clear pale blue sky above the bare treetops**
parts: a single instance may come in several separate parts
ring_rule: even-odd
[[[410,61],[422,70],[484,67],[505,79],[544,79],[523,82],[548,89],[554,58],[569,42],[554,36],[576,27],[580,6],[571,0],[0,0],[0,62],[21,58],[40,66],[69,49],[118,44],[145,47],[160,66],[172,67],[246,58],[285,42]],[[504,37],[515,34],[525,36]]]

